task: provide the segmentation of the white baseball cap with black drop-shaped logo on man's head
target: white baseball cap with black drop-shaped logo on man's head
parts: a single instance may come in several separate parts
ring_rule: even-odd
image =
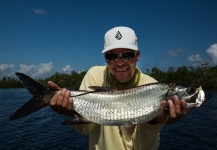
[[[128,27],[115,27],[105,34],[105,43],[102,53],[116,48],[126,48],[138,51],[137,37],[135,32]]]

